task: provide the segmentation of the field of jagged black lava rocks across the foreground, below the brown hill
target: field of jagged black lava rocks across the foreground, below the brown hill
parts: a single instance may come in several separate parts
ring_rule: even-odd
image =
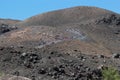
[[[11,53],[11,51],[16,52]],[[23,53],[25,51],[32,51],[32,53],[25,54]],[[4,50],[0,51],[0,70],[7,74],[15,75],[19,72],[19,76],[25,76],[30,79],[33,79],[34,76],[34,79],[41,77],[44,80],[102,80],[102,68],[98,68],[101,64],[106,67],[109,65],[117,67],[119,65],[115,64],[116,62],[112,61],[110,57],[104,57],[103,59],[95,55],[81,53],[76,58],[61,52],[51,54],[53,52],[52,50],[43,51],[35,48],[23,48],[21,50],[21,48],[4,47]],[[62,56],[58,57],[59,54]],[[48,56],[51,56],[51,58],[49,59]],[[83,61],[81,57],[86,60]],[[10,60],[3,62],[4,58],[9,58]],[[37,60],[37,62],[34,63],[33,60]],[[104,60],[106,60],[106,63],[104,63]],[[24,61],[27,61],[27,63],[25,64]],[[95,61],[98,61],[98,63]]]

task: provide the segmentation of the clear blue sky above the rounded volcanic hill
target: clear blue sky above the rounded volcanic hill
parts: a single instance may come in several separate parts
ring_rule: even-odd
[[[120,13],[120,0],[0,0],[0,18],[24,20],[36,14],[74,6],[96,6]]]

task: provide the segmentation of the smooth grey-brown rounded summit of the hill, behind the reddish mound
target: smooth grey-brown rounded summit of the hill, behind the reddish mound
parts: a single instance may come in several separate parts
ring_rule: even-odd
[[[53,12],[47,12],[26,19],[22,24],[28,26],[59,26],[69,23],[80,23],[106,16],[113,12],[96,7],[74,7]]]

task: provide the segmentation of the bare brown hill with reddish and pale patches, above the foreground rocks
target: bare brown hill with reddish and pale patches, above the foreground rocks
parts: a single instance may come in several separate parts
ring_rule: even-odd
[[[120,50],[120,15],[96,7],[74,7],[33,16],[0,37],[1,45],[50,45],[65,40],[96,44],[110,53]]]

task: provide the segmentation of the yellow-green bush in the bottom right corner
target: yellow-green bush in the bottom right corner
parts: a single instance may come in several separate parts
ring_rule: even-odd
[[[119,72],[115,68],[106,68],[102,70],[103,80],[120,80]]]

